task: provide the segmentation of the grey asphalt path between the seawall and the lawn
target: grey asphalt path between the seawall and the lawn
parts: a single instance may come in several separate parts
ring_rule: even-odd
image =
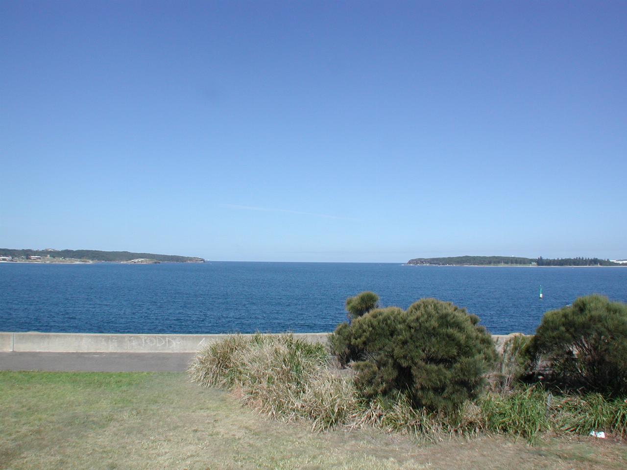
[[[184,372],[194,353],[0,352],[0,370]]]

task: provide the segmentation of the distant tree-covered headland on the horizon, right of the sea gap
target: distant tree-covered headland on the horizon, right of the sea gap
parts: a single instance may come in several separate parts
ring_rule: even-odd
[[[491,266],[491,265],[515,265],[515,266],[624,266],[612,263],[609,259],[599,258],[520,258],[519,256],[448,256],[445,258],[414,258],[407,264],[437,264],[438,266]]]

